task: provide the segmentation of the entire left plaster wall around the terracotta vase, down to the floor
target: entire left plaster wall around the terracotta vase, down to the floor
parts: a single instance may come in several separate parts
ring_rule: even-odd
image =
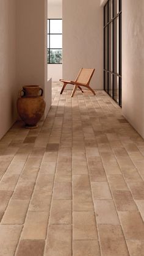
[[[47,0],[0,1],[0,138],[18,117],[16,99],[24,84],[45,90],[45,117],[51,106],[47,15]]]

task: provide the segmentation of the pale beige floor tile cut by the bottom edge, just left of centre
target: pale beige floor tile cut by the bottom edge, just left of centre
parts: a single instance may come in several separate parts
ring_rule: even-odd
[[[46,256],[71,256],[71,225],[49,225]]]

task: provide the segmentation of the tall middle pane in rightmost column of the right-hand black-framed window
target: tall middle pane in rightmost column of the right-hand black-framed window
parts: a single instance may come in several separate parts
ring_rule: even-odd
[[[119,74],[119,18],[113,20],[113,72]]]

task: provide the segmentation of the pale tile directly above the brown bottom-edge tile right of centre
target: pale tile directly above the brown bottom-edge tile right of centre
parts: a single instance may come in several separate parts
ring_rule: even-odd
[[[95,211],[98,224],[120,225],[113,200],[95,200]]]

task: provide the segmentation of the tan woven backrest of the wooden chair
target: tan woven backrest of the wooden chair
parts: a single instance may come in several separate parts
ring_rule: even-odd
[[[80,82],[81,84],[88,85],[90,83],[94,71],[95,68],[81,68],[75,82]]]

